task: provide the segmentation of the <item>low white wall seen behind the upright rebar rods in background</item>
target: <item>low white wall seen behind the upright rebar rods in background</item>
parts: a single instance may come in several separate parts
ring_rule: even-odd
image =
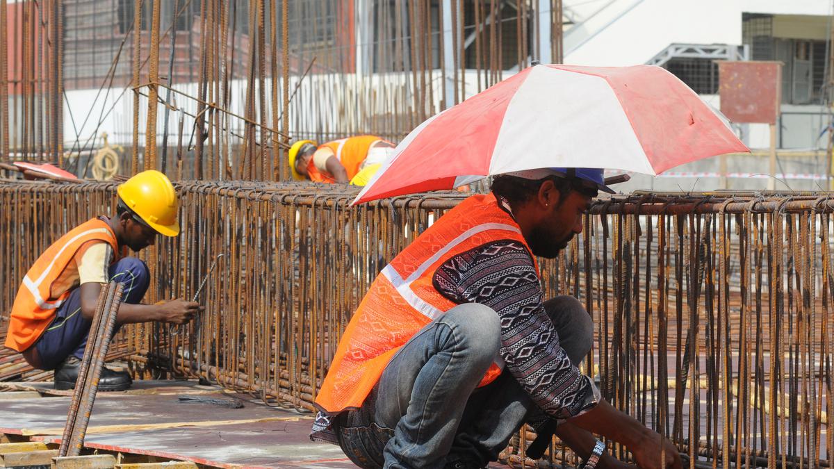
[[[504,73],[504,78],[510,78],[512,73]],[[477,92],[478,73],[467,70],[465,73],[466,97]],[[289,88],[295,89],[299,77],[290,78]],[[290,102],[289,129],[293,137],[309,138],[309,134],[350,134],[369,132],[378,128],[374,124],[374,116],[386,116],[392,109],[399,109],[400,113],[407,113],[412,107],[414,87],[410,85],[410,73],[374,73],[363,77],[356,74],[313,74],[304,78],[295,98]],[[441,71],[433,70],[427,81],[432,88],[434,101],[429,108],[435,112],[443,108],[443,82]],[[267,107],[271,116],[272,99],[271,79],[266,78]],[[179,83],[177,89],[195,96],[198,93],[196,83]],[[244,115],[246,81],[233,80],[229,84],[231,99],[229,111]],[[279,93],[283,85],[278,85]],[[133,143],[133,92],[124,88],[70,90],[64,102],[64,148],[90,149],[98,148],[101,144],[100,135],[107,132],[110,144],[130,145]],[[159,91],[160,98],[165,98],[165,90]],[[254,90],[258,95],[257,83]],[[98,95],[98,98],[96,96]],[[281,97],[279,96],[279,106]],[[195,114],[197,103],[191,98],[174,93],[172,102],[186,112]],[[139,100],[139,135],[140,144],[144,142],[147,122],[148,99]],[[279,108],[279,113],[281,108]],[[162,143],[163,134],[163,106],[157,109],[157,143]],[[179,113],[172,112],[168,121],[168,144],[177,142]],[[85,122],[86,121],[86,122]],[[192,129],[193,118],[183,117],[183,145],[188,144]],[[244,122],[229,117],[228,129],[234,134],[244,134]],[[271,123],[271,118],[268,119]],[[226,124],[224,124],[225,126]],[[271,125],[271,124],[270,124]],[[393,130],[393,129],[392,129]],[[78,143],[76,143],[78,134]],[[237,143],[237,137],[230,135],[232,143]]]

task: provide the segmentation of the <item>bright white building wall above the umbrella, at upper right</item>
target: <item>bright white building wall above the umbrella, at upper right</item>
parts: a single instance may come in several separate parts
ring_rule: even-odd
[[[741,44],[741,4],[737,0],[643,0],[576,50],[565,50],[565,63],[636,65],[671,43]]]

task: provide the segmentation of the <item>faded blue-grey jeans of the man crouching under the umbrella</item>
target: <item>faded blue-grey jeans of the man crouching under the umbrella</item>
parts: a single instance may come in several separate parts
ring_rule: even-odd
[[[590,315],[572,296],[545,302],[575,365],[593,341]],[[458,305],[391,359],[363,406],[339,415],[339,446],[366,469],[485,466],[527,421],[545,416],[508,371],[476,388],[498,356],[500,324],[485,305]]]

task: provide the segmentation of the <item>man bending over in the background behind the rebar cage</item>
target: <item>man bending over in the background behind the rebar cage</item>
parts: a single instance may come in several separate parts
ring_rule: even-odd
[[[316,145],[299,140],[289,149],[294,179],[327,184],[367,184],[394,154],[394,144],[375,135],[359,135]]]

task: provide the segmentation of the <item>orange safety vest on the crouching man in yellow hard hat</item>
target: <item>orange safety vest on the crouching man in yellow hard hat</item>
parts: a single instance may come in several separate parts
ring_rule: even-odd
[[[53,283],[58,280],[84,243],[96,240],[109,243],[113,246],[113,252],[118,253],[116,235],[107,222],[103,219],[90,219],[63,235],[38,257],[23,276],[23,282],[12,305],[6,335],[8,348],[20,352],[27,350],[47,330],[58,306],[67,300],[72,292],[53,292]]]

